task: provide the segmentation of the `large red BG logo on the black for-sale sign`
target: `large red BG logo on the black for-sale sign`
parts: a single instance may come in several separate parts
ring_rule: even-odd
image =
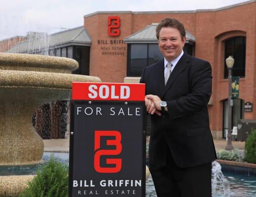
[[[115,139],[107,139],[107,146],[115,146],[114,150],[101,150],[102,136],[114,136]],[[115,164],[114,167],[101,167],[100,157],[104,155],[119,155],[122,152],[122,135],[119,131],[95,131],[94,136],[94,169],[99,173],[117,173],[122,168],[122,159],[106,159],[106,164]]]

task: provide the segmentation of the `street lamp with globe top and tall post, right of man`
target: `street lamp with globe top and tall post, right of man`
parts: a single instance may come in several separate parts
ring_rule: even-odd
[[[233,150],[234,147],[232,146],[232,135],[231,135],[231,122],[232,122],[232,106],[233,102],[232,100],[232,68],[234,65],[234,58],[229,56],[226,59],[226,65],[228,68],[228,134],[227,134],[227,146],[225,147],[226,150]]]

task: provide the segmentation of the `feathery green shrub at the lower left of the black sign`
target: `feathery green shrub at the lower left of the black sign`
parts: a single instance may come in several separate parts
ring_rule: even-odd
[[[68,167],[51,155],[20,197],[68,197]]]

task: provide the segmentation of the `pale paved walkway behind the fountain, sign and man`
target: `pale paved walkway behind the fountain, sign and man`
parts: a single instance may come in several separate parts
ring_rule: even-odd
[[[69,137],[65,139],[44,139],[44,151],[46,152],[69,152]],[[216,150],[225,149],[227,142],[225,139],[214,139]],[[245,149],[245,142],[232,141],[232,145],[239,149]]]

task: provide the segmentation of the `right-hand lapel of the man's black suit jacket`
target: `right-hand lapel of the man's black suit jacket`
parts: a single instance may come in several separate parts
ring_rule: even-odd
[[[175,79],[178,77],[179,73],[182,72],[182,70],[184,70],[188,66],[188,62],[189,62],[189,56],[184,52],[183,56],[179,59],[177,65],[174,67],[174,69],[171,72],[171,75],[164,88],[162,98],[165,96],[166,92],[171,88],[171,85],[173,84]]]

